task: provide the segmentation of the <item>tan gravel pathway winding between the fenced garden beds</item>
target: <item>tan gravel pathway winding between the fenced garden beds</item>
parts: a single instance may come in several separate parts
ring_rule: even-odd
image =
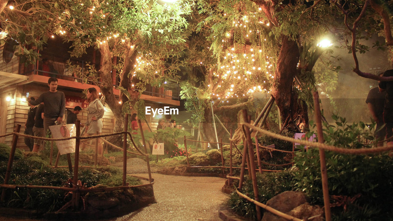
[[[123,162],[114,164],[122,167]],[[155,171],[152,168],[152,172]],[[127,173],[148,178],[147,166],[140,158],[127,160]],[[153,173],[156,202],[138,211],[102,221],[221,221],[218,210],[228,199],[221,192],[225,179],[183,177]],[[0,216],[2,221],[41,221]]]

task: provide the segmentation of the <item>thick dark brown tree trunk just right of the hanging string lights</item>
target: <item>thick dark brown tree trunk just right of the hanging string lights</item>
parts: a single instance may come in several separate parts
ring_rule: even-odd
[[[283,37],[272,85],[272,94],[281,114],[281,131],[297,132],[309,127],[307,105],[298,99],[298,92],[293,87],[298,62],[298,44]]]

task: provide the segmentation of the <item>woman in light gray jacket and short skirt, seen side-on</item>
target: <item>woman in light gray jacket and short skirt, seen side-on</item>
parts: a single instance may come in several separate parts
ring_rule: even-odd
[[[103,127],[101,118],[104,116],[104,105],[102,105],[101,101],[98,99],[97,90],[92,87],[87,89],[87,100],[90,102],[87,108],[87,120],[86,120],[86,133],[88,136],[94,135],[96,133],[101,134],[101,130]],[[99,155],[102,154],[103,147],[101,139],[99,139],[98,151]]]

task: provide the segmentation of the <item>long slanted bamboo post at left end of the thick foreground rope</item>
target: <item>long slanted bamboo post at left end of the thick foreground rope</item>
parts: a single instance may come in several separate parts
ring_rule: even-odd
[[[268,113],[268,112],[266,112]],[[267,116],[267,114],[265,114]],[[243,119],[244,121],[247,121],[247,110],[243,110]],[[250,123],[250,122],[249,122]],[[257,184],[257,175],[255,173],[255,158],[254,158],[254,151],[252,148],[252,140],[251,140],[251,133],[250,129],[246,126],[244,126],[244,132],[245,136],[247,139],[247,146],[248,146],[248,157],[250,158],[250,164],[247,165],[248,168],[250,168],[250,177],[252,179],[252,187],[253,187],[253,192],[254,192],[254,199],[255,201],[259,202],[259,197],[258,197],[258,184]],[[257,141],[255,142],[257,143]],[[261,214],[261,208],[258,205],[255,205],[255,208],[257,210],[257,220],[262,219],[262,214]]]

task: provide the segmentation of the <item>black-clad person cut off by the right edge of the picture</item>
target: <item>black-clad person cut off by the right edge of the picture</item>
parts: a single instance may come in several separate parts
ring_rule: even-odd
[[[393,69],[387,70],[384,77],[393,76]],[[379,91],[386,90],[386,99],[384,106],[384,122],[386,123],[387,145],[393,145],[393,81],[380,81],[378,83]]]

